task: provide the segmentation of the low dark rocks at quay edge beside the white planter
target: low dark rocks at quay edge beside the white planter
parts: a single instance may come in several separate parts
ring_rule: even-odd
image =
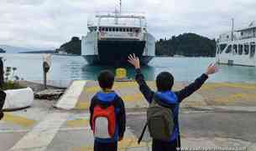
[[[46,89],[39,91],[38,93],[34,93],[34,98],[57,100],[61,97],[64,91],[64,89]]]

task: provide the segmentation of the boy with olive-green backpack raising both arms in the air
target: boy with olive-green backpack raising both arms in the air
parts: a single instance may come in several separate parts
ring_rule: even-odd
[[[218,68],[215,64],[211,64],[206,69],[206,73],[196,78],[194,83],[177,92],[171,91],[174,84],[172,74],[168,72],[159,73],[156,78],[157,92],[153,92],[144,81],[144,75],[140,71],[139,59],[134,54],[129,55],[128,62],[135,67],[139,90],[150,103],[147,110],[147,126],[149,127],[150,136],[153,138],[152,151],[177,150],[177,148],[180,148],[178,120],[180,103],[201,88],[210,74],[217,73]]]

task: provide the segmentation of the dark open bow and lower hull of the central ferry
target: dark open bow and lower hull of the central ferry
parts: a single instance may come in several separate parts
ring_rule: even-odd
[[[145,41],[111,41],[97,42],[97,55],[85,55],[89,64],[112,64],[121,66],[128,63],[128,55],[136,54],[142,65],[150,62],[153,56],[144,56]]]

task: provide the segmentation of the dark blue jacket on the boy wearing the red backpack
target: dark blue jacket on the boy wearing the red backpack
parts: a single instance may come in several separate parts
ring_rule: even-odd
[[[118,142],[118,138],[123,138],[123,134],[126,128],[126,114],[123,99],[118,96],[115,92],[103,93],[98,92],[93,98],[91,98],[90,105],[90,126],[92,129],[92,115],[94,107],[98,104],[104,105],[106,103],[113,103],[116,113],[116,130],[113,138],[96,138],[97,142],[100,143],[114,143]]]

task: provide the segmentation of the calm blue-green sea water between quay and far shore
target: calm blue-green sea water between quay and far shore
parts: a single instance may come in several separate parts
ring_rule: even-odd
[[[42,80],[43,70],[42,54],[0,54],[6,59],[5,67],[18,68],[16,75],[25,80]],[[143,67],[143,73],[147,80],[153,80],[162,71],[173,73],[176,81],[191,82],[205,69],[215,58],[154,58],[149,66]],[[128,78],[133,78],[133,68],[128,69]],[[97,79],[97,74],[102,69],[111,69],[110,66],[91,66],[82,57],[52,56],[50,68],[50,80],[74,80],[74,79]],[[212,76],[210,82],[243,82],[256,83],[256,68],[221,66],[220,73]]]

